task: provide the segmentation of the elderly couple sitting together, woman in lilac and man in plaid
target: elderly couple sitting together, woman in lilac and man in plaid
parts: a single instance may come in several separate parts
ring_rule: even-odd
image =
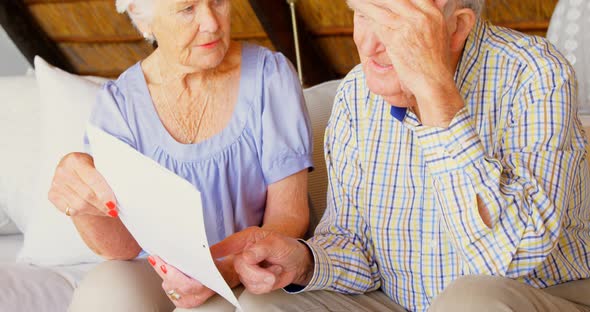
[[[91,122],[201,191],[246,311],[590,311],[574,73],[546,40],[482,20],[483,2],[348,0],[362,64],[334,100],[307,241],[301,88],[284,56],[230,40],[230,0],[117,0],[158,48],[104,86]],[[144,255],[91,148],[63,158],[49,197],[112,260],[70,311],[233,310]]]

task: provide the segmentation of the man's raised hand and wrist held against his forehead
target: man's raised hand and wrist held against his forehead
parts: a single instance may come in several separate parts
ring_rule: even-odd
[[[464,103],[454,82],[448,0],[349,0],[385,46],[408,101],[415,97],[423,124],[447,127]]]

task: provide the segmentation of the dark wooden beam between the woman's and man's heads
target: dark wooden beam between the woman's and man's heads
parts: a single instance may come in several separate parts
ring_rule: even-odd
[[[248,0],[274,47],[296,64],[295,42],[289,5],[285,0]],[[338,78],[324,53],[314,44],[307,26],[297,19],[301,67],[306,86]]]

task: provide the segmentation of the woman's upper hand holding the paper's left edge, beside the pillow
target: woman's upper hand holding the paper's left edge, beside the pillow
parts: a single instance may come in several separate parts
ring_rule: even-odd
[[[118,216],[115,195],[88,154],[71,153],[62,158],[48,197],[68,216]]]

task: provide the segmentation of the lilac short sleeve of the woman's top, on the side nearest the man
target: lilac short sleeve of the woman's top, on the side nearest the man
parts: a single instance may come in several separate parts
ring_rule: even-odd
[[[291,63],[269,53],[262,73],[260,159],[267,184],[312,168],[312,133],[301,84]]]

